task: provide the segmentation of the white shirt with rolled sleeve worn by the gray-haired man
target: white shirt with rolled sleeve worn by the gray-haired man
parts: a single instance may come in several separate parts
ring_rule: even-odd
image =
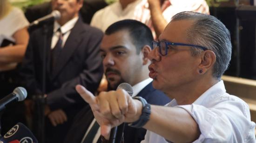
[[[248,104],[229,95],[222,80],[205,91],[193,104],[178,105],[173,99],[167,106],[183,108],[195,119],[201,135],[193,143],[256,143],[255,123],[250,120]],[[147,131],[141,143],[169,142]]]

